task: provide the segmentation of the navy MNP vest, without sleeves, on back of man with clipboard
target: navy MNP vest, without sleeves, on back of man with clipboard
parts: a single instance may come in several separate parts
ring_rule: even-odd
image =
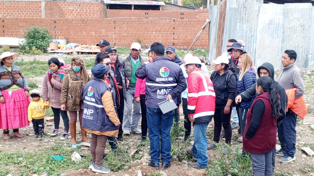
[[[168,57],[157,57],[146,65],[146,70],[146,106],[159,108],[157,104],[166,100],[169,92],[177,86],[181,68]],[[173,100],[176,102],[176,97],[173,97]]]

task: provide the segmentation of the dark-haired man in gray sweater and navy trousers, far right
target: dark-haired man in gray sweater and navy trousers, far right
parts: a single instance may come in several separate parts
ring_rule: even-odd
[[[297,88],[295,99],[304,94],[305,86],[303,76],[300,69],[295,65],[295,50],[285,50],[282,55],[282,72],[278,76],[277,81],[285,90]],[[276,155],[283,156],[279,161],[282,163],[290,163],[295,160],[295,142],[296,142],[296,119],[297,115],[289,109],[282,123],[278,126],[278,138],[281,143],[281,149],[276,151]]]

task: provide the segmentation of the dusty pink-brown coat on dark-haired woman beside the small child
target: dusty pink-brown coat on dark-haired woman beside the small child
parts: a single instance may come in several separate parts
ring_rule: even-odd
[[[60,97],[61,97],[61,88],[63,80],[59,77],[56,77],[55,80],[50,84],[48,74],[44,76],[44,82],[42,84],[42,99],[48,100],[51,107],[60,109]]]

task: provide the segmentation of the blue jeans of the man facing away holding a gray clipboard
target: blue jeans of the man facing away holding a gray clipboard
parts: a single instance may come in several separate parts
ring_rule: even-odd
[[[147,125],[150,141],[150,157],[152,163],[159,163],[160,154],[162,163],[171,161],[171,137],[175,110],[162,113],[160,108],[147,107]]]

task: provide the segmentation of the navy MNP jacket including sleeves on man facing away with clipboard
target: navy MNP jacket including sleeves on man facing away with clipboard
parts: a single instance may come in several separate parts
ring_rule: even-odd
[[[149,64],[142,64],[135,76],[146,78],[146,106],[150,108],[159,108],[158,103],[164,101],[168,94],[177,102],[176,97],[187,88],[180,66],[164,56],[155,58]]]

